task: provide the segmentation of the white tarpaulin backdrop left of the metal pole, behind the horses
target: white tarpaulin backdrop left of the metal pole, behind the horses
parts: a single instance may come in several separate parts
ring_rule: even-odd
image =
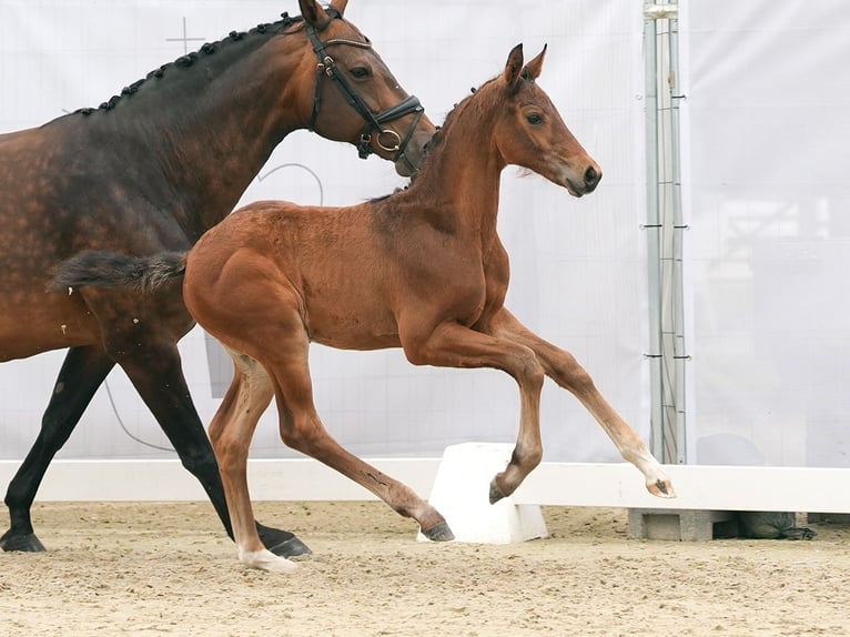
[[[297,13],[297,3],[0,0],[0,131],[97,107],[203,41],[274,21],[284,10]],[[499,224],[512,255],[508,303],[528,326],[574,352],[648,437],[640,4],[352,0],[346,17],[372,38],[436,123],[472,87],[500,72],[516,43],[524,42],[528,57],[548,43],[539,83],[605,179],[579,202],[540,178],[505,172]],[[345,204],[402,183],[385,162],[362,162],[351,146],[300,133],[277,149],[243,203],[285,198]],[[195,330],[181,351],[209,422],[222,383],[216,350],[210,357],[204,334]],[[0,457],[23,457],[31,445],[63,355],[0,365]],[[435,456],[461,441],[514,441],[518,398],[503,373],[413,367],[399,351],[314,347],[311,364],[320,413],[355,453]],[[619,459],[596,423],[552,383],[543,417],[547,459]],[[171,457],[156,446],[168,442],[115,371],[59,457]],[[294,455],[277,438],[274,413],[261,423],[252,454]]]

